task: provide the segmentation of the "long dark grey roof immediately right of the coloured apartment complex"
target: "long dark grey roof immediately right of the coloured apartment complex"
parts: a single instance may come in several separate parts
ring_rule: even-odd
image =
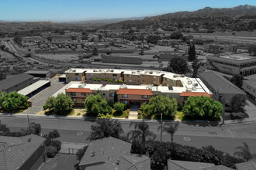
[[[212,71],[203,72],[199,73],[199,77],[202,77],[202,79],[218,93],[245,94],[243,90],[240,90],[237,86],[218,73]]]

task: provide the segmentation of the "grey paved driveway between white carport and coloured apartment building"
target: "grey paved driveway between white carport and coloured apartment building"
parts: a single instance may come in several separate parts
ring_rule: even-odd
[[[43,110],[43,104],[45,104],[48,97],[52,96],[57,90],[64,87],[65,83],[59,82],[57,77],[50,80],[50,87],[36,93],[35,96],[31,97],[29,100],[32,102],[32,107],[23,112],[24,114],[36,114]]]

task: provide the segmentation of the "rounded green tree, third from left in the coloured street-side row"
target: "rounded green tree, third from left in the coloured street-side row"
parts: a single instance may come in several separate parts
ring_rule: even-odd
[[[111,112],[111,107],[105,98],[102,98],[100,93],[90,95],[85,100],[85,108],[88,114],[97,116],[99,113],[108,114]]]

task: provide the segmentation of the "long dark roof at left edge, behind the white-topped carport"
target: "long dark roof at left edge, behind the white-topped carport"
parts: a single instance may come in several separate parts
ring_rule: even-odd
[[[0,81],[0,91],[1,90],[5,91],[5,90],[9,89],[10,87],[14,87],[14,86],[18,85],[19,83],[29,80],[30,78],[33,78],[33,76],[26,74],[26,73],[21,73],[21,74],[11,76],[8,79]]]

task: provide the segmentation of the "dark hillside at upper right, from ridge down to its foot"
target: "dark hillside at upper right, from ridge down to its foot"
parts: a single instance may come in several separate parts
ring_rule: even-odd
[[[162,29],[237,29],[247,30],[244,19],[255,19],[256,6],[239,5],[234,8],[202,8],[195,12],[175,12],[153,17],[146,17],[142,20],[128,20],[102,26],[103,29],[130,29],[138,27],[144,29],[146,26]],[[235,25],[234,25],[235,23]],[[238,24],[238,25],[237,25]],[[247,23],[248,24],[248,23]],[[233,26],[232,26],[233,25]]]

